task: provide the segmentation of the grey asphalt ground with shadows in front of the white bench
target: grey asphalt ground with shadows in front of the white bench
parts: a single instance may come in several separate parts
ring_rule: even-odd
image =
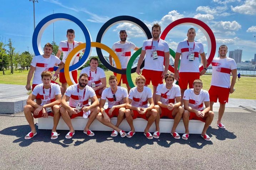
[[[149,140],[139,132],[132,138],[113,138],[103,131],[94,131],[94,137],[76,131],[72,139],[65,139],[68,131],[57,131],[59,137],[51,140],[51,130],[38,129],[25,140],[30,132],[25,117],[0,116],[0,169],[251,170],[256,167],[256,112],[247,111],[226,112],[226,129],[216,126],[216,114],[207,131],[210,142],[199,134],[177,140],[162,133]]]

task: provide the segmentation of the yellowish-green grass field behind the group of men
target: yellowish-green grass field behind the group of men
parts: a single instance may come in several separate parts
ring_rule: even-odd
[[[78,70],[78,75],[80,74],[81,70]],[[10,74],[10,70],[6,70],[5,74],[3,75],[2,72],[0,74],[0,83],[1,84],[18,84],[18,85],[26,85],[27,81],[27,73],[28,71],[15,71],[14,74]],[[112,74],[111,71],[105,71],[107,79],[109,78],[109,75]],[[134,80],[137,76],[136,73],[133,73],[132,80]],[[230,77],[232,78],[232,76]],[[211,75],[203,75],[201,76],[201,80],[203,81],[203,89],[209,90],[210,83],[211,83]],[[59,79],[57,80],[59,83]],[[31,81],[32,83],[32,81]],[[107,85],[108,86],[108,85]],[[126,85],[123,85],[123,87],[126,87]],[[149,85],[149,87],[152,89],[152,85]],[[24,87],[25,88],[25,87]],[[256,77],[241,77],[240,80],[236,81],[235,84],[236,91],[230,95],[230,98],[237,98],[237,99],[256,99]]]

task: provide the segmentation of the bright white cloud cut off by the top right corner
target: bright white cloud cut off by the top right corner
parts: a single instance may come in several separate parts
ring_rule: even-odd
[[[254,15],[256,14],[256,0],[246,0],[240,6],[231,6],[231,10],[240,14]]]

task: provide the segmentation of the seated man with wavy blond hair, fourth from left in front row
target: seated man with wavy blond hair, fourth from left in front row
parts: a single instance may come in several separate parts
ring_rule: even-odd
[[[154,123],[157,117],[157,111],[154,109],[154,102],[152,98],[152,92],[149,87],[145,86],[146,79],[144,76],[137,76],[135,83],[136,87],[133,87],[129,92],[129,101],[126,103],[125,117],[128,124],[131,127],[130,135],[127,133],[127,137],[130,138],[135,134],[135,128],[133,126],[133,119],[137,117],[147,120],[147,126],[144,130],[144,135],[147,139],[153,139],[152,134],[149,132],[149,128]],[[150,106],[147,107],[147,102]],[[159,129],[156,129],[154,138],[159,138]]]

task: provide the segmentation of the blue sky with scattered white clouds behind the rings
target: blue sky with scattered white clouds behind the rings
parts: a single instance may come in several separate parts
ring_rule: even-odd
[[[204,21],[214,32],[217,48],[226,44],[229,51],[242,49],[242,60],[251,60],[256,53],[256,0],[130,0],[130,1],[71,1],[70,0],[38,0],[35,2],[36,25],[44,17],[53,13],[66,13],[77,17],[88,28],[91,39],[96,41],[101,26],[109,19],[129,15],[139,18],[149,28],[159,22],[163,31],[171,22],[184,17],[194,17]],[[15,51],[24,52],[32,49],[34,31],[33,3],[29,0],[11,0],[1,3],[0,36],[13,41]],[[171,49],[176,51],[177,44],[186,39],[187,28],[182,25],[173,28],[166,37]],[[76,41],[85,42],[81,29],[70,21],[54,23],[54,38],[59,44],[66,40],[66,30],[75,30]],[[102,43],[109,47],[119,41],[119,31],[127,30],[128,41],[141,47],[146,37],[139,27],[131,23],[119,23],[107,30]],[[196,40],[201,41],[207,53],[207,41],[204,34],[196,28]],[[41,44],[53,41],[53,25],[46,28]],[[107,52],[103,51],[105,55]],[[97,55],[95,48],[92,54]],[[215,56],[217,56],[217,51]]]

